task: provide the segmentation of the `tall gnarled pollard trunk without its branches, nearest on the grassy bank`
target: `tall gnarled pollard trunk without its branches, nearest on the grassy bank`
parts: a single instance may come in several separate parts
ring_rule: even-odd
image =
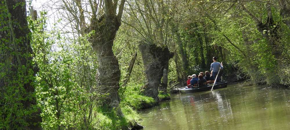
[[[99,62],[99,75],[96,79],[98,86],[102,88],[103,93],[108,93],[106,103],[111,108],[119,108],[121,101],[118,90],[120,80],[119,62],[115,57],[112,47],[121,23],[116,15],[105,14],[99,20],[92,20],[90,31],[95,31],[89,41],[97,53]],[[124,116],[121,109],[118,109],[118,116]]]

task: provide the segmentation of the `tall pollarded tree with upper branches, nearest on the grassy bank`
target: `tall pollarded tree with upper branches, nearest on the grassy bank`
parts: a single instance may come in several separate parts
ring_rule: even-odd
[[[108,93],[106,104],[110,108],[117,108],[118,116],[124,116],[119,109],[121,73],[112,47],[121,25],[125,0],[61,0],[61,4],[62,9],[75,21],[74,29],[78,34],[90,34],[88,41],[96,52],[99,64],[97,86],[102,88],[102,93]]]

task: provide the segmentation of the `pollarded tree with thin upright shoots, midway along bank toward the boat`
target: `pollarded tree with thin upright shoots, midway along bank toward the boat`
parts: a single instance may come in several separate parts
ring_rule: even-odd
[[[173,57],[168,47],[172,43],[170,24],[173,21],[172,1],[131,0],[126,6],[124,23],[135,29],[148,83],[144,94],[159,101],[158,88],[167,93],[168,62]],[[162,79],[162,82],[161,82]]]

